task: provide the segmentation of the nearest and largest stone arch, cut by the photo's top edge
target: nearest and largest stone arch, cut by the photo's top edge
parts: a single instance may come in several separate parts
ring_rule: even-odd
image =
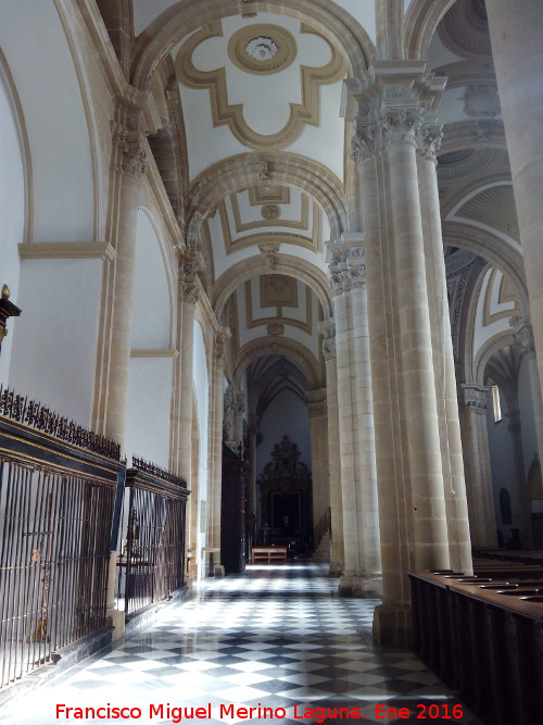
[[[330,0],[290,0],[288,5],[283,0],[255,0],[251,4],[251,11],[283,13],[311,23],[342,50],[354,77],[363,77],[376,55],[375,46],[362,25]],[[205,23],[237,15],[239,12],[237,0],[176,2],[138,37],[131,68],[132,85],[148,90],[154,72],[178,40]]]

